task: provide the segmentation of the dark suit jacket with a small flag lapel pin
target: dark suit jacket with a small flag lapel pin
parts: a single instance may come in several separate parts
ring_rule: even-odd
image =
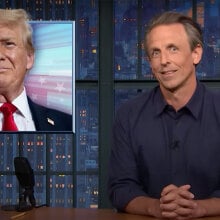
[[[72,131],[72,115],[49,109],[28,98],[37,131]]]

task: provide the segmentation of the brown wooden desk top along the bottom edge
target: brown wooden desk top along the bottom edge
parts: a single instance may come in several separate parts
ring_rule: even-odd
[[[0,210],[0,220],[156,220],[147,216],[116,213],[111,209],[79,209],[41,207],[25,213]],[[220,220],[207,217],[200,220]]]

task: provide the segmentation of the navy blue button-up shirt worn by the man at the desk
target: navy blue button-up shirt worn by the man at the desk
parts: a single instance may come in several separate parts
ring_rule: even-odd
[[[220,94],[197,83],[178,112],[159,87],[128,101],[113,126],[109,197],[123,210],[137,196],[191,185],[195,199],[220,197]]]

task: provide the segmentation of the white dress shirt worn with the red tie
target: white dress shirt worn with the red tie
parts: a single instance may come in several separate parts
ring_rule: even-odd
[[[0,106],[3,103],[0,103]],[[12,101],[12,104],[17,107],[13,114],[14,121],[19,131],[36,131],[34,121],[32,119],[31,111],[28,105],[26,90]],[[3,114],[0,112],[0,128],[2,128]]]

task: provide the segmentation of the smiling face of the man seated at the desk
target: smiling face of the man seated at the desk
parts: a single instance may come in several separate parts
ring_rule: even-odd
[[[147,36],[149,62],[164,90],[176,91],[195,82],[195,64],[202,56],[201,46],[190,49],[181,24],[159,25]]]

